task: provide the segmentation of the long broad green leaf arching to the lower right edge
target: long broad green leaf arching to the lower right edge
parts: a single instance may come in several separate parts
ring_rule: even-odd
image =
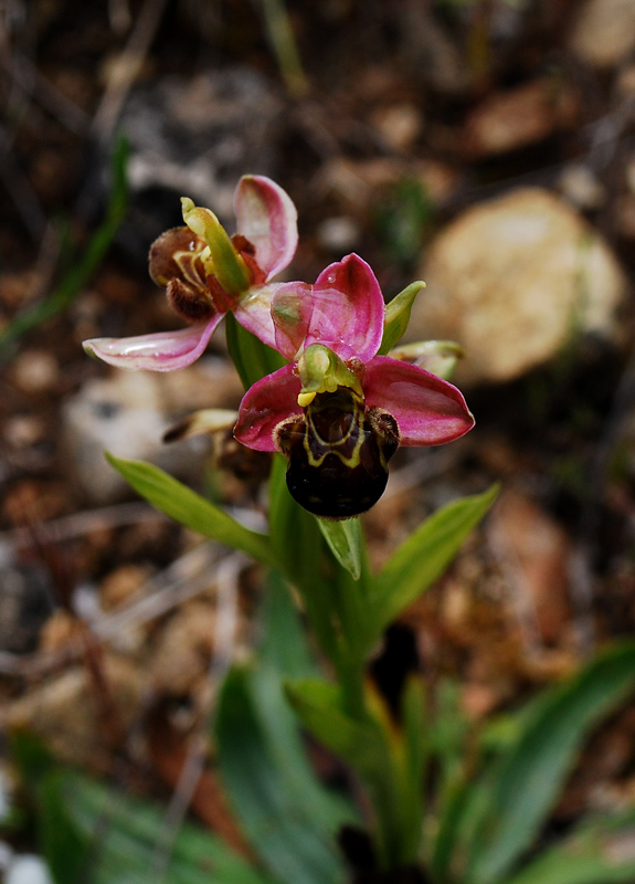
[[[635,642],[616,644],[546,692],[495,774],[474,838],[470,884],[499,881],[531,846],[593,726],[635,686]]]

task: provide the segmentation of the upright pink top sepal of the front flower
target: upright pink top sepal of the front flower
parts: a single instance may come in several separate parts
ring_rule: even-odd
[[[325,344],[342,359],[370,359],[379,349],[385,312],[370,266],[350,254],[324,270],[313,291],[313,315],[306,345]]]

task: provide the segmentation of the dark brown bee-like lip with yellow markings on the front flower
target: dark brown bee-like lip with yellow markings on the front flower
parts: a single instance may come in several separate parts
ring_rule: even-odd
[[[318,393],[301,418],[282,423],[277,443],[288,457],[287,487],[309,513],[345,519],[364,513],[385,490],[399,448],[394,418],[366,409],[352,390]]]

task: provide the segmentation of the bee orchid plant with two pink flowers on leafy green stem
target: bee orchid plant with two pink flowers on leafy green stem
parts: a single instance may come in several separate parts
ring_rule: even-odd
[[[184,225],[163,233],[150,250],[150,275],[166,286],[186,328],[84,346],[117,368],[173,371],[203,354],[226,317],[230,355],[246,388],[234,436],[273,456],[268,532],[252,530],[150,464],[109,460],[158,508],[261,562],[271,575],[269,592],[293,590],[289,598],[299,601],[331,677],[298,680],[287,672],[274,704],[275,727],[284,718],[284,690],[303,727],[348,762],[364,787],[379,866],[416,870],[424,860],[423,685],[410,673],[389,699],[370,677],[369,662],[384,630],[452,561],[496,488],[435,513],[375,573],[359,516],[383,494],[400,445],[440,445],[472,429],[465,399],[447,380],[459,349],[447,341],[395,348],[423,283],[387,306],[371,267],[356,254],[326,267],[314,284],[274,282],[297,245],[292,200],[269,179],[246,176],[234,204],[237,232],[230,238],[213,212],[183,199]],[[224,420],[205,412],[176,435],[218,429]],[[282,645],[288,634],[281,632]],[[332,843],[327,849],[320,841],[319,855],[330,857],[328,874],[285,877],[279,853],[245,811],[245,794],[255,787],[241,781],[233,788],[241,762],[231,762],[236,740],[225,733],[230,711],[236,704],[247,709],[247,729],[268,714],[250,693],[254,672],[235,666],[220,698],[216,738],[234,810],[277,880],[335,884],[341,881],[335,830],[350,821],[349,811],[330,814]],[[307,860],[307,867],[313,863],[315,872],[316,862]]]

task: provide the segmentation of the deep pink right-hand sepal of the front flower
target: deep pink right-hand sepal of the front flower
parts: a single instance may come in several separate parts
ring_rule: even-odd
[[[396,420],[402,445],[442,445],[474,427],[456,387],[399,359],[371,359],[362,387],[368,407],[377,406]]]

